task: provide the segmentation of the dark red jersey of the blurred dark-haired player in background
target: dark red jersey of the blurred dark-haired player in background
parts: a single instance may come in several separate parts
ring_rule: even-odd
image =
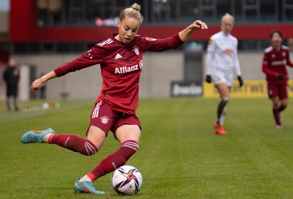
[[[263,57],[263,72],[267,75],[267,81],[272,81],[277,84],[285,84],[289,79],[286,65],[293,67],[289,59],[289,48],[281,45],[280,51],[275,50],[272,46],[264,51]],[[277,80],[276,75],[281,74],[283,80]]]

